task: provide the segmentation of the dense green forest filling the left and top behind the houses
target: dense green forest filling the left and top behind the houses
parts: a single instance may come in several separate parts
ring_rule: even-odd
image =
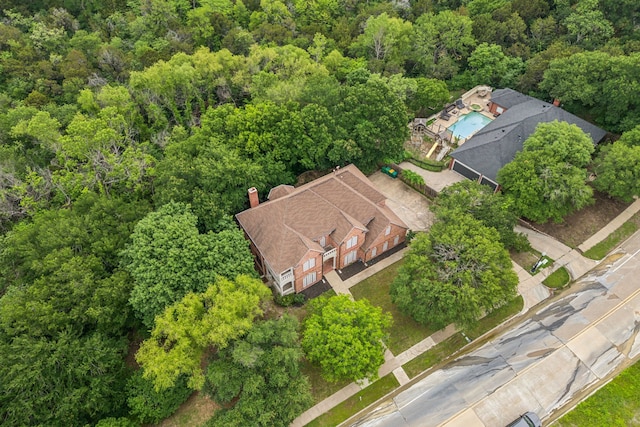
[[[203,389],[238,398],[212,425],[269,393],[292,406],[254,422],[286,425],[296,366],[251,390],[216,374],[302,355],[297,323],[263,316],[246,189],[399,160],[408,120],[488,84],[623,134],[594,185],[628,199],[639,25],[636,0],[4,0],[0,424],[140,425]]]

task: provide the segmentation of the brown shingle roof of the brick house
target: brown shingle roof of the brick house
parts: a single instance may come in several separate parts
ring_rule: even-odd
[[[275,273],[296,266],[309,249],[322,252],[314,241],[320,236],[331,234],[342,242],[354,227],[368,230],[363,244],[367,250],[389,224],[406,228],[384,206],[385,197],[353,165],[285,191],[236,215]]]

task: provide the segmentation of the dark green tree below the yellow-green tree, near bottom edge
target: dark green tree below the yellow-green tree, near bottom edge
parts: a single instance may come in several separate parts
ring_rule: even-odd
[[[298,322],[289,315],[255,324],[247,335],[219,351],[206,373],[216,402],[210,426],[289,425],[313,401],[300,371]]]

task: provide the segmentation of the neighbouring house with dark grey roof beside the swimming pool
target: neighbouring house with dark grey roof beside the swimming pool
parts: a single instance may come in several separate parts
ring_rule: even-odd
[[[489,111],[495,120],[451,153],[450,168],[494,189],[498,188],[498,171],[522,151],[524,141],[539,123],[558,120],[575,124],[591,137],[594,145],[606,135],[604,130],[556,105],[513,89],[493,91]]]

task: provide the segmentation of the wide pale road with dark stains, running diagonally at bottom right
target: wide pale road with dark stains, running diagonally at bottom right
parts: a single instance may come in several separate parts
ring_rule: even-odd
[[[496,427],[541,418],[640,354],[640,233],[514,329],[433,372],[357,426]]]

